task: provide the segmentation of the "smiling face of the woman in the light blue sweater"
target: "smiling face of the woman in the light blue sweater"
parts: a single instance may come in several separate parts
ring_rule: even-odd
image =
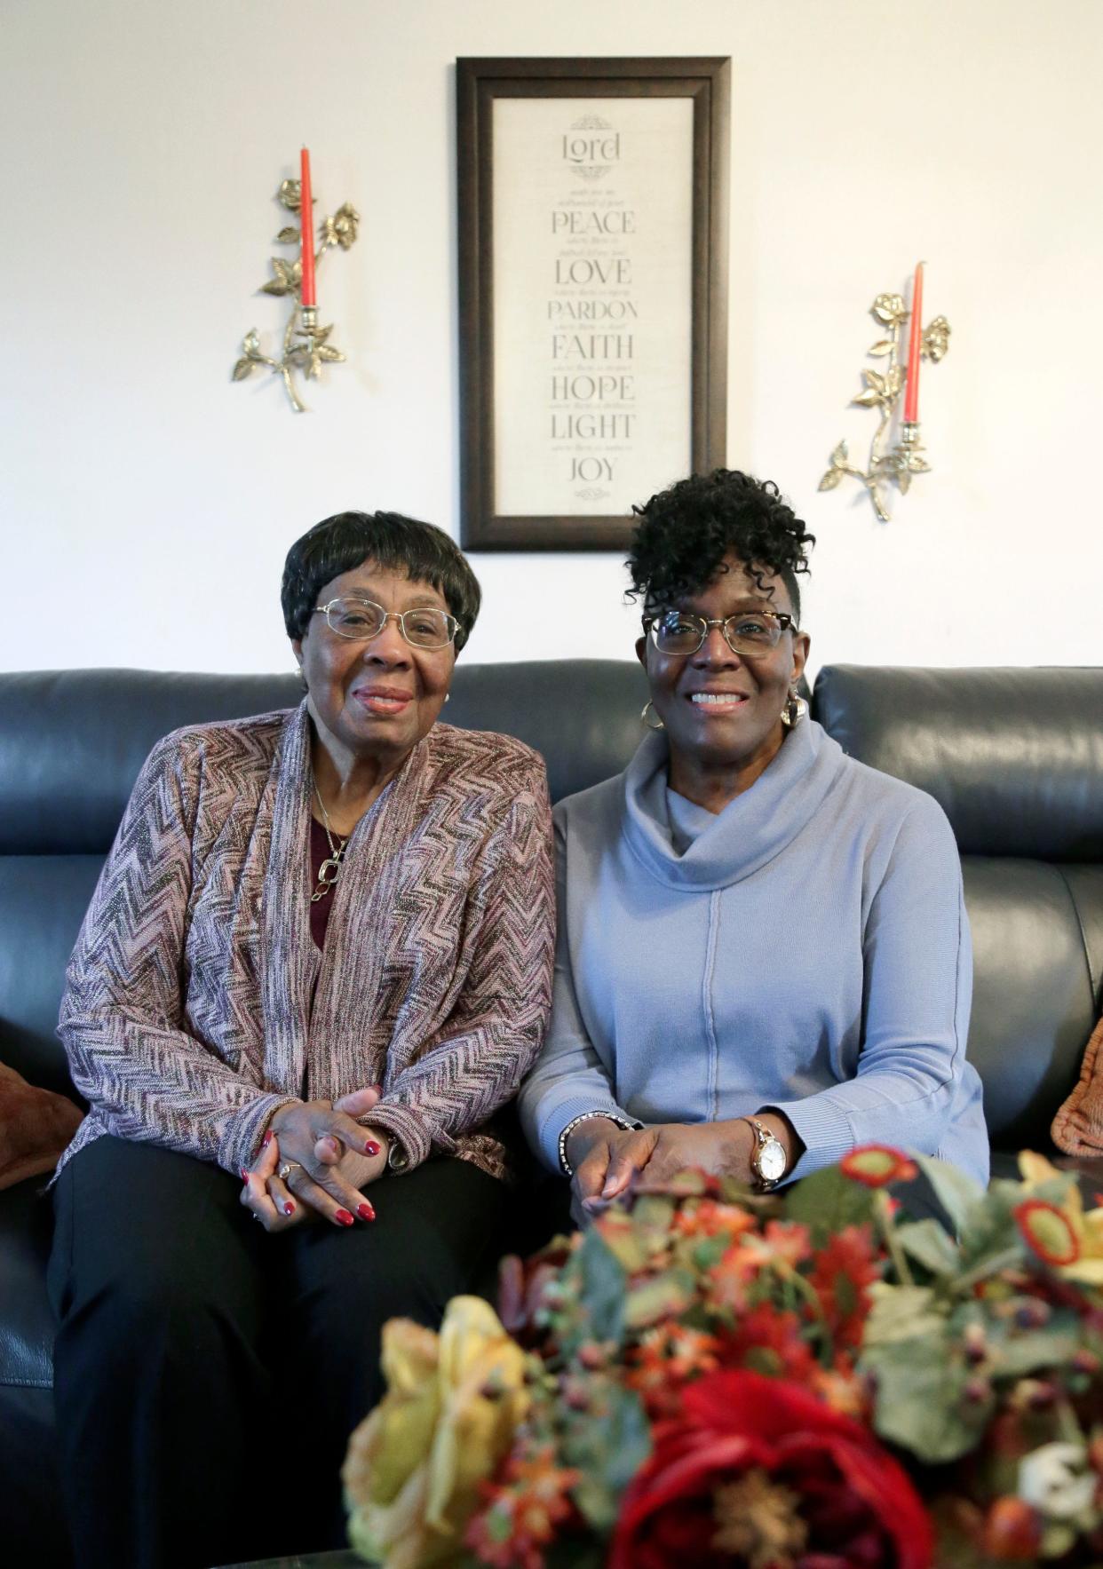
[[[784,612],[792,617],[784,582],[769,573],[750,573],[726,555],[698,593],[661,609],[683,610],[708,621],[747,612]],[[786,629],[775,648],[737,654],[723,629],[711,626],[693,654],[664,654],[653,639],[635,645],[651,686],[651,701],[670,741],[672,783],[678,769],[748,772],[741,788],[777,756],[784,739],[781,712],[789,689],[805,668],[808,635]],[[675,783],[675,788],[678,784]]]

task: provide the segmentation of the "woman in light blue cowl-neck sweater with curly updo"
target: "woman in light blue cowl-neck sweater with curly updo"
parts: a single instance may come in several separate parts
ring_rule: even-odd
[[[521,1097],[576,1213],[642,1167],[769,1188],[866,1142],[987,1177],[954,836],[806,715],[810,543],[725,469],[640,510],[651,733],[555,808],[552,1023]]]

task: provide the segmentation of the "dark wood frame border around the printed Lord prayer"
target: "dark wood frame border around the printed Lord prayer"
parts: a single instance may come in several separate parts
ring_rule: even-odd
[[[726,58],[458,60],[460,493],[472,551],[613,551],[626,516],[507,516],[494,499],[493,110],[497,97],[690,97],[690,438],[693,471],[726,460],[728,138]],[[626,507],[637,499],[626,497]]]

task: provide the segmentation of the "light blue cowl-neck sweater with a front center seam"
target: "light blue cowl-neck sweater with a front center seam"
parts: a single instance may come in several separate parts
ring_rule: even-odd
[[[552,1018],[521,1090],[533,1149],[557,1170],[585,1111],[777,1108],[806,1145],[792,1177],[875,1142],[987,1181],[970,932],[938,803],[808,719],[719,816],[673,800],[672,824],[654,733],[555,808]]]

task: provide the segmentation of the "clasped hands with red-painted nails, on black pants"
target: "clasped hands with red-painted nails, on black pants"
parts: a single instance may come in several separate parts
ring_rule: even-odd
[[[267,1232],[311,1216],[345,1227],[375,1219],[362,1189],[386,1170],[388,1136],[355,1119],[378,1098],[372,1084],[340,1100],[279,1108],[253,1166],[242,1167],[242,1203]]]

